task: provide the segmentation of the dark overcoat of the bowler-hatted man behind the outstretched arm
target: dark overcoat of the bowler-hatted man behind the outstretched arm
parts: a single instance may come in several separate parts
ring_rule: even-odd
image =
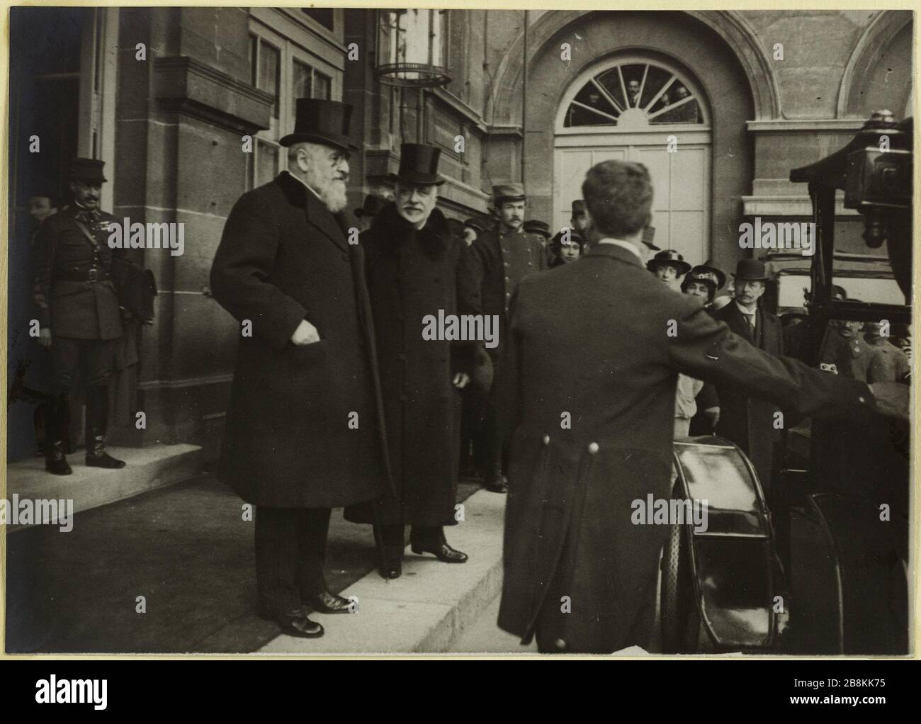
[[[754,336],[739,305],[734,301],[710,313],[714,319],[725,321],[729,329],[746,342],[763,349],[769,355],[784,354],[783,324],[769,311],[758,308]],[[781,436],[781,428],[775,426],[775,413],[780,408],[764,399],[752,397],[734,385],[717,385],[717,397],[717,435],[732,440],[745,451],[758,473],[761,485],[770,489],[775,445],[780,442]],[[787,424],[787,420],[783,422]]]

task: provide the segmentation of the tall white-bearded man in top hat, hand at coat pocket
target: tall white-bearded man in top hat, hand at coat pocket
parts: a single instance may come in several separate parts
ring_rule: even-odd
[[[352,107],[297,99],[287,170],[240,196],[211,268],[240,323],[218,478],[256,507],[259,610],[322,636],[305,604],[348,613],[323,565],[330,510],[387,488],[364,255],[341,212]]]

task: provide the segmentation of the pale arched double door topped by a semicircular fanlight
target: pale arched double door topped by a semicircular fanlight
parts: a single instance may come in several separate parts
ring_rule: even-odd
[[[618,54],[566,89],[554,133],[554,226],[569,223],[591,166],[616,158],[649,169],[656,244],[691,263],[709,255],[711,123],[696,79],[659,55]]]

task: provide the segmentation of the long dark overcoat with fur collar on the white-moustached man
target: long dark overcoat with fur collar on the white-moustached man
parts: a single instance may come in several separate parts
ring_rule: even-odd
[[[453,525],[457,503],[461,394],[457,372],[472,371],[476,343],[423,338],[423,320],[475,314],[467,245],[435,209],[416,230],[388,204],[360,237],[365,250],[391,471],[397,495],[380,522]],[[347,520],[373,522],[370,506]]]

